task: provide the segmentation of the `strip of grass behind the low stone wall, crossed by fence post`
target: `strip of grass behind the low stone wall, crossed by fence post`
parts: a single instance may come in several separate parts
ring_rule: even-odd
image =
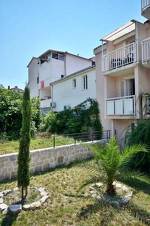
[[[74,140],[67,137],[56,136],[56,146],[72,144]],[[48,148],[53,146],[53,138],[36,138],[31,140],[30,149]],[[18,152],[19,141],[0,141],[0,155]]]

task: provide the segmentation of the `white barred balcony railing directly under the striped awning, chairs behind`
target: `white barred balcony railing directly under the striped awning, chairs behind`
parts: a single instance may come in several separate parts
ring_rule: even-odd
[[[135,42],[103,55],[102,70],[108,72],[137,61],[137,44]]]

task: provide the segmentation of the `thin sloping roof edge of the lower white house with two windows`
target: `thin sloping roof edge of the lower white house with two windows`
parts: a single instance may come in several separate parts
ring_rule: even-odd
[[[57,83],[59,83],[59,82],[68,80],[68,79],[70,79],[70,78],[73,78],[73,77],[75,77],[75,76],[78,76],[78,75],[81,74],[81,73],[85,73],[85,72],[91,71],[92,69],[94,70],[95,68],[96,68],[96,66],[90,66],[90,67],[84,68],[84,69],[82,69],[82,70],[80,70],[80,71],[77,71],[77,72],[74,72],[74,73],[72,73],[72,74],[70,74],[70,75],[67,75],[67,76],[65,76],[64,78],[58,79],[58,80],[56,80],[56,81],[54,81],[54,82],[51,82],[50,85],[54,85],[54,84],[57,84]]]

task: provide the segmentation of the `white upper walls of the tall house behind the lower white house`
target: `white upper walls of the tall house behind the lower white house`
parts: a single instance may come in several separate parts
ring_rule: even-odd
[[[92,65],[92,61],[66,53],[65,59],[50,61],[38,64],[38,59],[33,58],[28,67],[28,81],[31,90],[31,97],[39,95],[40,81],[44,80],[44,87],[49,87],[51,82],[59,80],[61,75],[69,75]],[[39,84],[37,77],[39,76]],[[42,92],[42,90],[41,90]]]

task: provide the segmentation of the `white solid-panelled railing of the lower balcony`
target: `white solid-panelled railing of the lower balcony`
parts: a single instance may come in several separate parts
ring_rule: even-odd
[[[134,116],[135,96],[109,98],[106,100],[107,116]]]

